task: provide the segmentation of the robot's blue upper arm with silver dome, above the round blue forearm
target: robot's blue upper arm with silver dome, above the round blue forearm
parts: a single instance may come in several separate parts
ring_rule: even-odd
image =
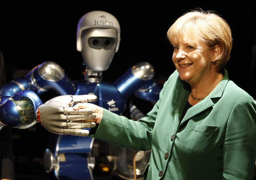
[[[2,96],[12,96],[13,94],[31,90],[41,95],[49,89],[55,90],[60,95],[74,94],[75,84],[65,74],[58,64],[47,61],[36,66],[25,78],[17,78],[0,88]]]

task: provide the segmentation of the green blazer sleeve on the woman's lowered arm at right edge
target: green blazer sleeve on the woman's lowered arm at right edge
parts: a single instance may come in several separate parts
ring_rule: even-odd
[[[244,95],[227,121],[223,147],[223,179],[252,180],[256,156],[256,105]]]

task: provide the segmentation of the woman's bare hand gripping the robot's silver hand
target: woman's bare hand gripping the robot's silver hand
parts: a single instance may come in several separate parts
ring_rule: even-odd
[[[96,118],[95,119],[88,119],[86,121],[91,121],[94,123],[99,124],[100,121],[102,120],[102,116],[103,116],[103,108],[96,106],[95,104],[92,103],[77,103],[76,106],[73,106],[74,110],[78,110],[78,109],[91,109],[93,110],[94,114],[96,114]]]

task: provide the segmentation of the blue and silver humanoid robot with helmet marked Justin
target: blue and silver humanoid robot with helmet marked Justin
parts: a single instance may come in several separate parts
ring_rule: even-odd
[[[90,110],[73,111],[75,103],[93,102],[122,114],[132,94],[151,102],[159,98],[162,86],[154,82],[154,69],[146,62],[131,67],[114,83],[102,81],[102,71],[110,66],[119,43],[116,18],[105,11],[91,11],[81,17],[77,28],[77,50],[87,66],[83,80],[73,82],[58,64],[47,61],[25,78],[12,80],[0,88],[0,124],[25,129],[40,122],[53,133],[76,135],[53,136],[52,146],[45,151],[44,167],[47,172],[54,172],[57,179],[93,179],[94,138],[81,136],[87,136],[90,129],[86,128],[95,124],[77,120],[89,119],[94,114]],[[41,106],[39,96],[49,89],[61,96]],[[48,115],[43,117],[42,109]]]

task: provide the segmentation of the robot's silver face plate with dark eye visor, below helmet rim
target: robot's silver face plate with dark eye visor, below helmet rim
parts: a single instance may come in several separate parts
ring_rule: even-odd
[[[115,29],[91,28],[82,32],[81,54],[86,66],[93,71],[105,71],[116,51]]]

